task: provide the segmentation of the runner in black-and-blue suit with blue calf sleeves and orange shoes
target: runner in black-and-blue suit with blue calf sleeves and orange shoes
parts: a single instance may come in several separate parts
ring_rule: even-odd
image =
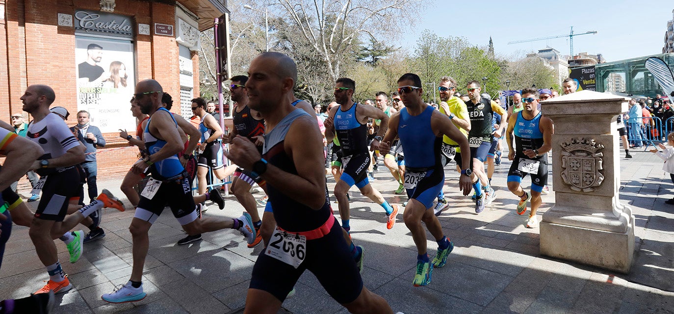
[[[370,150],[377,150],[381,141],[381,135],[384,135],[388,128],[388,116],[381,110],[372,106],[365,106],[353,102],[353,92],[356,89],[356,82],[342,77],[335,84],[335,100],[340,106],[332,108],[330,117],[326,119],[326,139],[332,140],[335,133],[342,144],[342,165],[344,172],[337,181],[334,189],[335,197],[339,201],[339,212],[342,218],[342,227],[347,232],[350,231],[349,225],[349,203],[346,199],[346,193],[351,186],[356,185],[361,193],[372,201],[381,205],[386,211],[386,228],[393,228],[396,223],[398,206],[391,206],[381,193],[374,189],[367,180],[365,169],[370,163],[370,156],[367,150],[367,119],[380,119],[381,125],[377,136],[370,145]]]

